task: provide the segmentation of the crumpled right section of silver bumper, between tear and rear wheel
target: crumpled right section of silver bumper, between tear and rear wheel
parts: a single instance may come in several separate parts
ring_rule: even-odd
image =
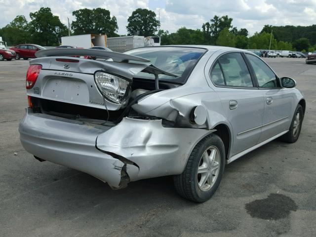
[[[123,118],[98,136],[96,146],[134,162],[127,164],[127,174],[135,181],[182,173],[197,142],[213,131],[167,128],[162,120]]]

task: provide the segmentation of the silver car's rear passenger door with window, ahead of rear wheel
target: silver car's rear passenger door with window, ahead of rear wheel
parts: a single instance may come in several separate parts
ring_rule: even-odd
[[[231,155],[256,145],[261,135],[263,95],[255,87],[244,57],[239,52],[226,53],[218,58],[210,73],[233,127]]]

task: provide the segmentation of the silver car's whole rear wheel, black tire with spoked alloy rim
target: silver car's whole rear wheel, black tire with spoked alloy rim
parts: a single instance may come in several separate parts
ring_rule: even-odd
[[[193,149],[182,174],[175,175],[178,194],[195,202],[204,202],[217,190],[225,167],[225,148],[216,134],[203,138]]]

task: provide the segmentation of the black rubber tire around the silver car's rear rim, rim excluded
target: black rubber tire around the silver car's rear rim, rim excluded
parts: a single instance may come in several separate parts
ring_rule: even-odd
[[[204,162],[202,160],[202,155],[204,152],[208,152],[208,149],[217,149],[219,154],[219,164],[218,170],[215,171],[216,175],[212,175],[212,178],[215,177],[215,180],[210,185],[210,189],[207,191],[202,191],[201,188],[198,186],[198,177],[197,169],[199,167],[200,162]],[[204,202],[207,201],[209,198],[213,196],[215,191],[217,190],[225,168],[225,147],[224,143],[219,136],[216,134],[210,134],[203,138],[193,149],[187,165],[182,172],[182,174],[174,175],[173,182],[176,191],[178,194],[184,198],[195,202]],[[208,181],[207,181],[208,183]],[[205,183],[205,185],[207,185]]]

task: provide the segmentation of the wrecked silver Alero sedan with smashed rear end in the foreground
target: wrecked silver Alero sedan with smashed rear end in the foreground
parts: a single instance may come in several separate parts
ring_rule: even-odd
[[[74,54],[112,61],[67,57]],[[225,163],[300,135],[306,102],[295,80],[278,78],[246,50],[67,48],[36,56],[26,76],[23,147],[114,189],[173,175],[182,197],[203,202],[218,188]]]

